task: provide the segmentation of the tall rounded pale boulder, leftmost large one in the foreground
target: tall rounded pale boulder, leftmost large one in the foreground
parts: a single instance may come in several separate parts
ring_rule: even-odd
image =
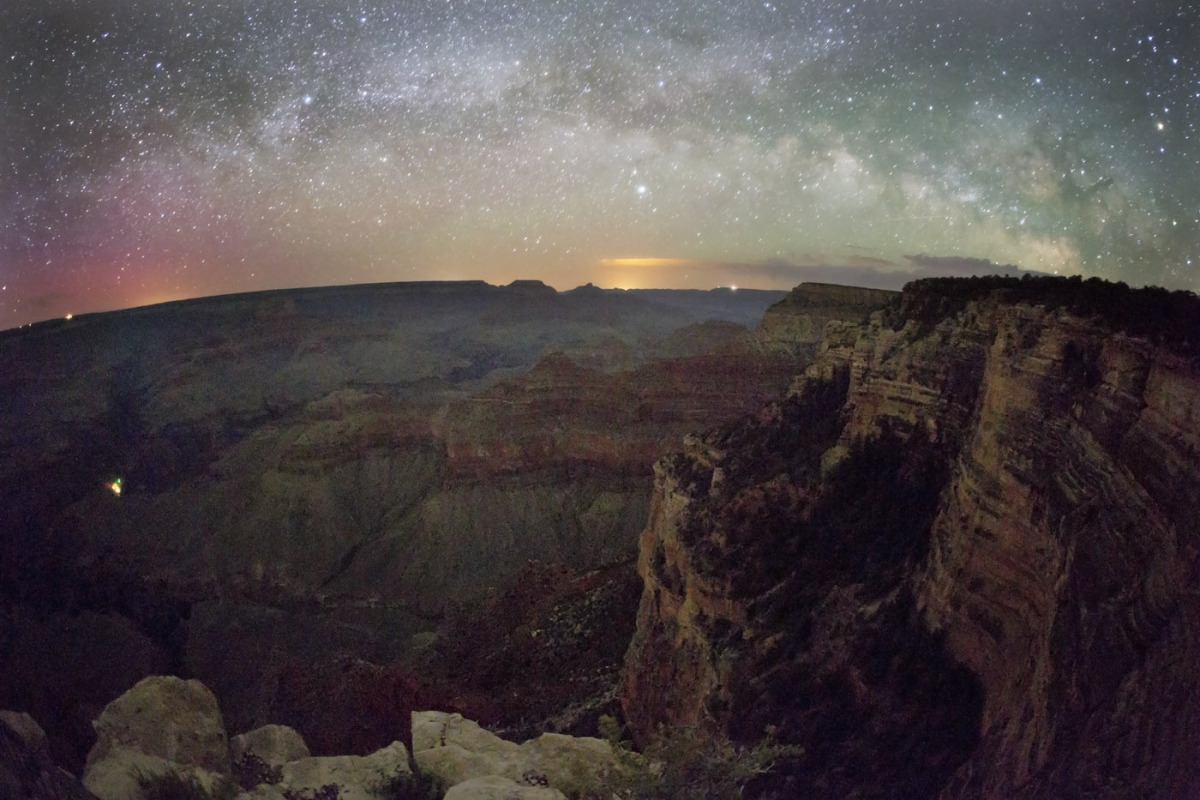
[[[229,744],[221,709],[212,692],[198,680],[152,675],[109,703],[94,723],[96,745],[88,769],[120,748],[229,772]]]

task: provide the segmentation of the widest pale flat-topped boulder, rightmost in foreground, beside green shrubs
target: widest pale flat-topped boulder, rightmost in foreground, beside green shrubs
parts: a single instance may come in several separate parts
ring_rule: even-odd
[[[413,712],[413,758],[451,788],[503,777],[517,786],[577,794],[602,784],[617,769],[612,745],[600,739],[547,733],[517,745],[442,711]]]

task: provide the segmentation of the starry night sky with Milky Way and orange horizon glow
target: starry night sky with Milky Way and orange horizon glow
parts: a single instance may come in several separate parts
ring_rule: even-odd
[[[1189,0],[4,0],[0,329],[230,291],[1200,289]]]

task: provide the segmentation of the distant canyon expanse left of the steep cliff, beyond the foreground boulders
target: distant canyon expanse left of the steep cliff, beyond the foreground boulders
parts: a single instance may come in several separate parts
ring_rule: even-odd
[[[530,560],[616,564],[611,613],[629,610],[655,459],[800,366],[751,330],[782,297],[332,287],[0,332],[0,704],[77,765],[96,704],[152,666],[203,678],[239,723],[293,714],[334,741],[360,706],[298,698],[347,663],[362,698],[392,697],[407,679],[385,675],[436,656],[434,630],[468,631],[467,651],[510,632],[454,620],[541,585]],[[546,650],[538,669],[448,645],[445,663],[474,667],[443,669],[439,697],[492,722],[524,698],[542,716],[611,698],[595,654],[619,661],[632,622],[484,648],[502,666]],[[580,645],[593,628],[602,646]],[[588,670],[551,657],[566,640]],[[497,681],[512,691],[485,702]]]

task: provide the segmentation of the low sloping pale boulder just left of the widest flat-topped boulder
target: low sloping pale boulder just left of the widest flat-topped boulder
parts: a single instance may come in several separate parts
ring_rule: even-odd
[[[280,768],[280,781],[239,795],[240,800],[336,796],[338,800],[383,800],[384,784],[396,775],[408,775],[408,751],[394,741],[370,756],[301,758]],[[334,790],[328,787],[336,788]]]

